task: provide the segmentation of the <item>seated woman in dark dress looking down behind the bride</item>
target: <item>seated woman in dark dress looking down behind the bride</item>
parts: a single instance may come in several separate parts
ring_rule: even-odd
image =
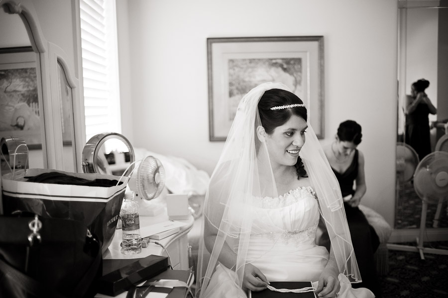
[[[361,273],[362,283],[353,284],[352,287],[367,288],[376,298],[380,298],[381,287],[373,258],[379,246],[379,238],[358,208],[366,192],[364,155],[356,149],[361,137],[361,126],[353,120],[346,120],[339,124],[336,140],[324,147],[324,152],[339,182],[351,241]]]

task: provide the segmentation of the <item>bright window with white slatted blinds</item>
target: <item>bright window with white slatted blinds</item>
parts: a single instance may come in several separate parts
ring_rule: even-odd
[[[115,0],[80,0],[86,140],[121,132]]]

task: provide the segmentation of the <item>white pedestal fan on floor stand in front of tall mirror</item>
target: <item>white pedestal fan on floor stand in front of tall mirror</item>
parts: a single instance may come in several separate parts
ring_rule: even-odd
[[[423,247],[423,237],[426,229],[426,213],[428,204],[442,203],[448,199],[448,152],[436,151],[425,156],[414,173],[414,189],[422,199],[422,216],[420,218],[420,233],[417,246],[388,245],[389,248],[418,251],[422,260],[423,253],[448,255],[448,250]]]

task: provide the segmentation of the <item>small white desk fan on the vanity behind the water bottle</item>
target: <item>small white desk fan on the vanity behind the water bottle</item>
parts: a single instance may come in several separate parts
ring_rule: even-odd
[[[165,168],[160,160],[153,156],[143,158],[137,173],[129,179],[128,186],[138,202],[139,215],[155,216],[163,211],[165,205],[160,194],[165,187]]]

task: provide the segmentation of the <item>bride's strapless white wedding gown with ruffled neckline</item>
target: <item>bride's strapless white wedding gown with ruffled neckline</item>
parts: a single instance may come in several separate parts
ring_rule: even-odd
[[[261,270],[268,281],[311,281],[317,287],[329,253],[315,243],[319,207],[311,187],[302,187],[278,198],[259,198],[255,206],[247,262]],[[204,297],[247,297],[234,283],[235,273],[218,265]],[[339,274],[339,298],[373,298],[366,289],[352,289]]]

